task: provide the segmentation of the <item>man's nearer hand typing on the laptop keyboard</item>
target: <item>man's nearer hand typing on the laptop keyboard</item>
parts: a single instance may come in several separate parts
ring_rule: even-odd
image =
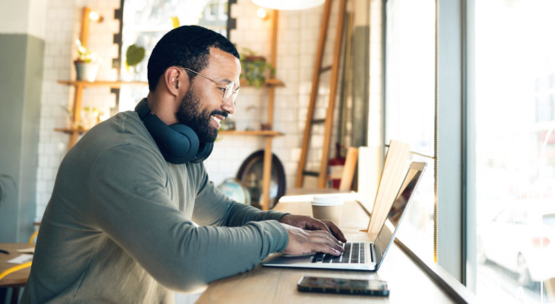
[[[283,253],[289,255],[301,255],[313,251],[329,253],[330,255],[341,255],[345,249],[339,245],[339,241],[331,233],[322,230],[303,230],[301,228],[282,223],[289,235],[289,243]]]

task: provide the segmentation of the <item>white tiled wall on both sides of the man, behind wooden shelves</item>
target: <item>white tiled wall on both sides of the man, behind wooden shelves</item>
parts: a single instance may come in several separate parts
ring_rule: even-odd
[[[339,2],[339,1],[336,1]],[[37,173],[37,212],[40,221],[44,208],[52,193],[58,166],[66,153],[68,135],[58,133],[53,128],[67,126],[64,108],[71,108],[74,90],[60,85],[60,79],[74,79],[72,60],[76,57],[74,41],[80,30],[81,9],[88,6],[104,17],[101,24],[89,26],[88,47],[99,53],[103,62],[97,79],[116,80],[117,71],[112,69],[112,58],[117,57],[117,46],[113,44],[113,34],[117,33],[119,23],[113,19],[114,9],[119,8],[119,0],[49,0],[46,15],[46,49],[44,55],[44,82],[42,94],[41,131],[39,142],[39,168]],[[242,48],[253,49],[262,56],[270,56],[271,19],[256,17],[257,6],[250,0],[238,0],[232,6],[232,17],[237,18],[237,28],[230,33],[230,40]],[[312,81],[312,69],[321,24],[323,6],[301,11],[280,11],[278,22],[278,58],[276,77],[285,87],[275,90],[274,130],[286,135],[273,141],[273,152],[284,165],[287,188],[290,189],[296,176],[302,133],[305,128],[307,106]],[[332,6],[330,29],[323,65],[330,65],[335,35],[337,5]],[[318,99],[316,117],[325,116],[325,105],[329,95],[330,73],[321,77],[322,89]],[[108,87],[86,88],[83,92],[83,107],[108,110],[114,107],[115,96]],[[237,100],[237,110],[231,119],[237,123],[238,130],[259,129],[266,121],[267,89],[253,87],[241,88]],[[336,110],[336,112],[338,112]],[[336,133],[336,132],[334,132]],[[316,141],[322,141],[323,126],[314,129]],[[336,135],[334,135],[336,136]],[[332,139],[332,144],[335,140]],[[241,162],[250,153],[264,149],[262,137],[221,136],[216,141],[214,152],[205,162],[210,178],[219,185],[225,178],[237,174]],[[309,159],[319,166],[321,149],[311,150]],[[307,179],[307,186],[311,185]]]

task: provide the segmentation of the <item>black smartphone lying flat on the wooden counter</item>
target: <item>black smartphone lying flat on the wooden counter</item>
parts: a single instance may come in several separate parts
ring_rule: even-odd
[[[299,292],[327,292],[332,294],[366,294],[389,296],[387,282],[382,280],[355,280],[347,278],[320,278],[303,276],[297,282]]]

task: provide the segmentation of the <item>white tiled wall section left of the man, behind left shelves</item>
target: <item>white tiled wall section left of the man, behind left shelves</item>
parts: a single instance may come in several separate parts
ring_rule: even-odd
[[[37,209],[35,219],[40,221],[44,208],[52,194],[56,172],[67,152],[69,135],[54,131],[66,128],[69,116],[65,109],[73,104],[74,89],[60,85],[58,80],[75,78],[73,60],[77,50],[75,40],[79,36],[83,6],[96,10],[104,17],[102,23],[89,26],[88,47],[99,53],[103,62],[97,79],[115,80],[117,72],[112,69],[112,58],[117,57],[113,34],[119,31],[119,22],[114,20],[114,9],[119,0],[60,1],[48,0],[46,4],[44,81],[42,83],[39,167],[37,170]],[[83,106],[109,109],[115,103],[110,88],[87,88]]]

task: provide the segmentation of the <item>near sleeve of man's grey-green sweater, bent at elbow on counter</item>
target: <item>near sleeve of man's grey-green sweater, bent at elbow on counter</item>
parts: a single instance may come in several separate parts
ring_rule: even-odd
[[[237,217],[234,207],[215,208],[219,221],[248,221],[244,226],[195,226],[171,203],[164,164],[137,150],[121,145],[102,153],[86,181],[89,203],[83,212],[161,284],[194,291],[287,247],[287,230],[278,221],[248,221],[253,217]],[[199,198],[211,201],[211,195],[214,202],[221,199],[213,189]]]

